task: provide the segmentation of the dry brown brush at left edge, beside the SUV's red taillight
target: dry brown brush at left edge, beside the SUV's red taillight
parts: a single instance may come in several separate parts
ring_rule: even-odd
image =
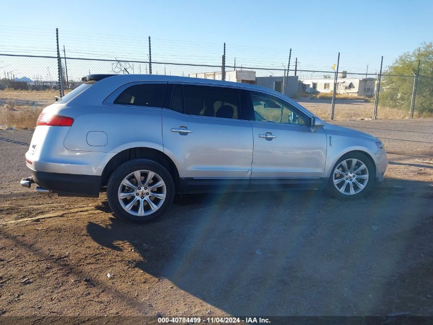
[[[7,101],[0,107],[0,125],[18,129],[34,128],[43,107],[19,106],[15,101]]]

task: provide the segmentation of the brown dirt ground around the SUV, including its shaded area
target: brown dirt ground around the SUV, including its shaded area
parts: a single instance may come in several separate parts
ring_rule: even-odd
[[[433,119],[338,124],[385,144],[368,197],[190,195],[146,225],[20,187],[32,131],[0,131],[0,315],[433,316]]]

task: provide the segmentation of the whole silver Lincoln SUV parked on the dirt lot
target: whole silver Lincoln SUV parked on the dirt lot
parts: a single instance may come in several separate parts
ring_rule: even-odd
[[[93,74],[37,120],[26,153],[39,193],[97,197],[144,222],[175,194],[322,189],[355,198],[383,181],[383,144],[254,85]]]

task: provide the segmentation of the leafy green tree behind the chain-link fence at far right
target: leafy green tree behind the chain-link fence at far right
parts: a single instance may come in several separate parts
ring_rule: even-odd
[[[409,110],[414,87],[414,74],[420,60],[415,112],[418,115],[433,114],[433,43],[422,43],[413,52],[400,55],[386,68],[379,94],[380,105]],[[422,77],[421,77],[422,76]]]

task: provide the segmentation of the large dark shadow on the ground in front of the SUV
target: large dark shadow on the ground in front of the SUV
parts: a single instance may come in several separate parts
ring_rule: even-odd
[[[413,278],[432,265],[431,194],[427,183],[386,179],[355,201],[314,191],[179,196],[154,222],[110,218],[87,231],[112,250],[128,241],[142,258],[135,267],[231,315],[417,314],[428,303]]]

